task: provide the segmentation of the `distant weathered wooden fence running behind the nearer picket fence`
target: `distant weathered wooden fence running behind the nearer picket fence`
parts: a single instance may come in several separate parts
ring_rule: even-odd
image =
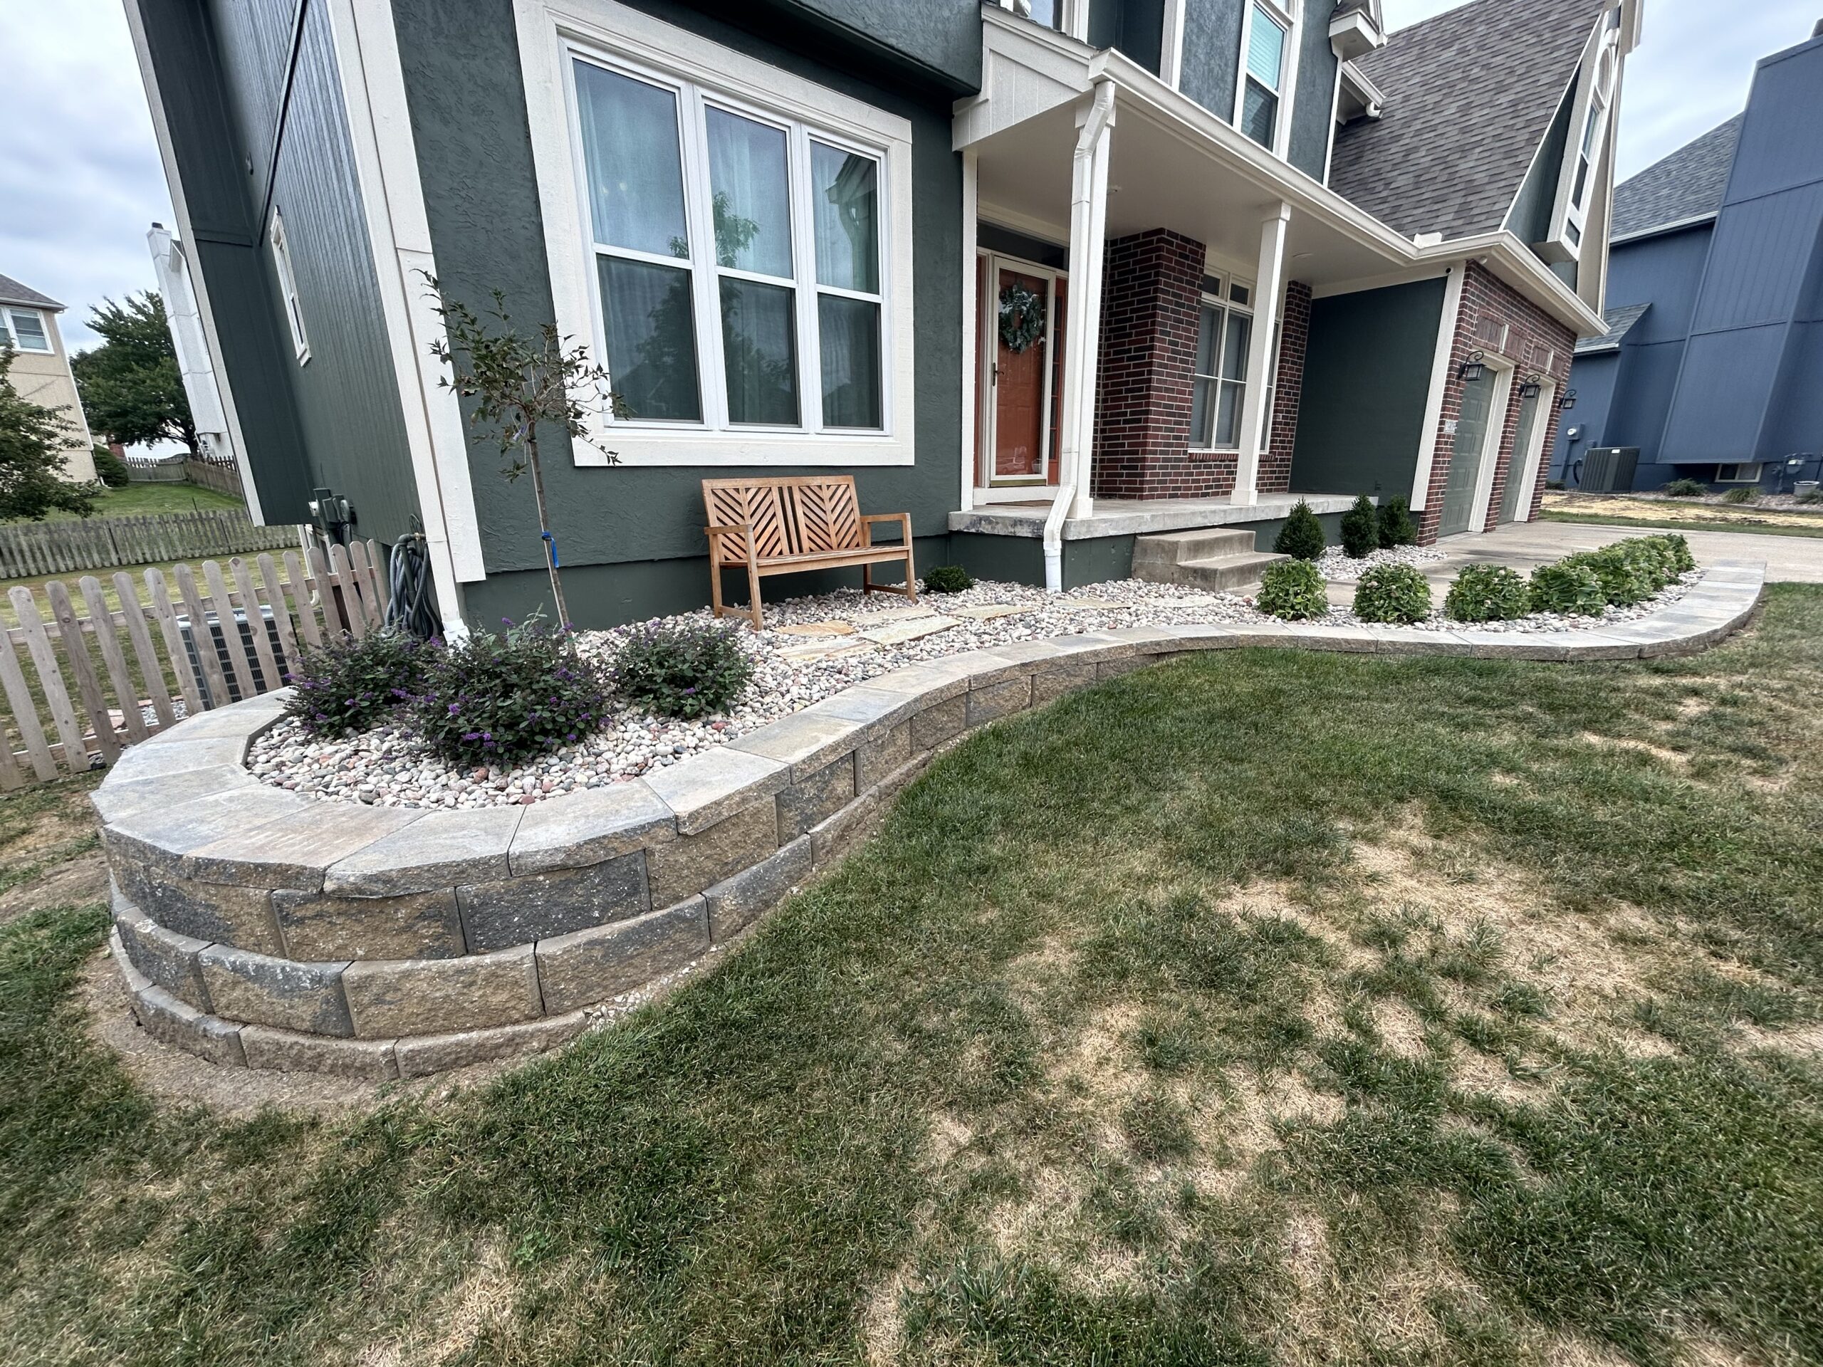
[[[0,580],[149,565],[160,560],[244,556],[297,543],[295,527],[255,527],[244,512],[233,509],[5,523],[0,525]]]

